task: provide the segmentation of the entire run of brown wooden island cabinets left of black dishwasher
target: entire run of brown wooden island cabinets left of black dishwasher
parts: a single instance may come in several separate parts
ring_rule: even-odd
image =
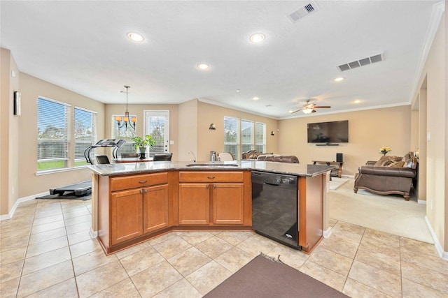
[[[98,175],[95,186],[106,254],[170,230],[251,229],[249,170]]]

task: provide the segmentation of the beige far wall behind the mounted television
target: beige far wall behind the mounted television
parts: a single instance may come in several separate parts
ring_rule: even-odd
[[[317,112],[316,112],[317,114]],[[307,124],[349,120],[349,142],[339,146],[316,146],[307,143]],[[388,155],[403,156],[410,147],[410,105],[383,109],[324,114],[279,121],[279,153],[293,154],[300,163],[335,161],[344,154],[342,174],[353,176],[366,161],[377,161],[379,148],[391,147]]]

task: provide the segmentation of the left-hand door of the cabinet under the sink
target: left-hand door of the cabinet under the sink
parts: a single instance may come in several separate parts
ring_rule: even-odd
[[[179,184],[179,224],[208,225],[210,223],[210,185]]]

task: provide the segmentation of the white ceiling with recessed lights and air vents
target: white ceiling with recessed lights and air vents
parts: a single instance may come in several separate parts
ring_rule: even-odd
[[[332,106],[314,114],[411,103],[440,1],[316,0],[314,13],[287,17],[310,2],[1,1],[1,47],[23,73],[102,103],[125,103],[125,84],[130,105],[200,98],[275,119],[307,98]],[[258,32],[265,41],[250,43]]]

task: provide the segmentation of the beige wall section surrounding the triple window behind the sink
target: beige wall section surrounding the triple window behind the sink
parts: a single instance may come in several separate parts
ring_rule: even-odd
[[[270,135],[277,130],[277,120],[232,110],[227,107],[211,105],[198,101],[197,103],[197,160],[209,161],[210,151],[216,153],[224,151],[224,117],[235,117],[244,120],[256,121],[266,124],[266,151],[277,152],[277,135]],[[216,130],[209,130],[210,124],[215,124]],[[241,156],[234,156],[240,159]]]

